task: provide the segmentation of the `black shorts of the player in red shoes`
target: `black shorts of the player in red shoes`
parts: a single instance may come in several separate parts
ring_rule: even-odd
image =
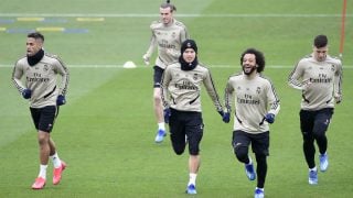
[[[30,110],[35,129],[50,133],[53,129],[58,108],[56,106],[46,106],[43,108],[30,108]]]

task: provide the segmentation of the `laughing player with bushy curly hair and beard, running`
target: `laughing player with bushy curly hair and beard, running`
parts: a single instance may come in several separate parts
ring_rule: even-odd
[[[226,111],[223,121],[231,120],[232,105],[235,103],[232,145],[236,158],[245,164],[249,180],[257,178],[255,198],[264,197],[269,154],[269,123],[274,123],[280,102],[272,82],[263,76],[264,54],[255,48],[246,50],[240,56],[243,72],[229,77],[225,88]],[[249,145],[255,153],[257,168],[248,154]]]

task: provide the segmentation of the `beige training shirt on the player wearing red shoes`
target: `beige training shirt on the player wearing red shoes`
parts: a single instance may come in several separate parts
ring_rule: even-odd
[[[56,85],[57,75],[61,76],[60,85]],[[14,65],[12,81],[20,94],[26,88],[32,90],[30,107],[56,106],[57,96],[66,95],[68,70],[56,55],[45,53],[33,66],[29,65],[26,57],[20,58]]]

